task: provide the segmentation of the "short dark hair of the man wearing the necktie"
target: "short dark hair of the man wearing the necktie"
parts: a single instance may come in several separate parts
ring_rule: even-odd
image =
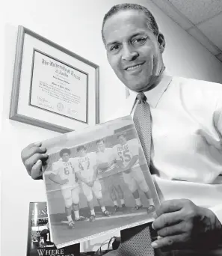
[[[110,10],[108,10],[108,13],[105,14],[103,21],[102,21],[102,40],[103,43],[105,43],[105,37],[103,34],[103,28],[105,25],[105,22],[107,21],[108,18],[111,16],[114,16],[114,14],[119,13],[120,10],[141,10],[145,16],[147,17],[147,28],[151,29],[153,34],[158,35],[158,25],[157,22],[155,21],[155,17],[152,15],[152,13],[144,6],[140,4],[116,4],[113,7],[111,7]]]

